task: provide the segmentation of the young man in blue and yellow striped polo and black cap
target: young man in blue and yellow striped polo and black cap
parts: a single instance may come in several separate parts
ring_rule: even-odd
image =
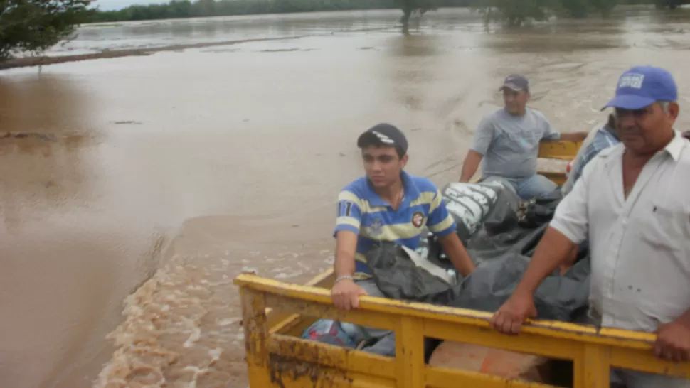
[[[390,124],[378,124],[357,140],[366,176],[347,185],[338,197],[335,228],[334,304],[349,310],[359,306],[359,296],[383,296],[364,254],[373,242],[397,242],[417,249],[423,228],[439,237],[445,253],[463,276],[474,270],[455,222],[440,191],[426,178],[403,171],[408,162],[405,135]]]

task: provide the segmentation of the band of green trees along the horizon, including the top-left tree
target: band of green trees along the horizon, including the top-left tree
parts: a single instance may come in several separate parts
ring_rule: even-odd
[[[94,0],[0,0],[0,62],[17,53],[39,55],[73,38],[83,23],[141,21],[166,18],[281,14],[289,12],[400,9],[403,33],[413,14],[440,7],[472,7],[485,23],[521,26],[529,19],[556,14],[585,18],[607,16],[617,4],[655,4],[674,9],[690,0],[172,0],[167,4],[135,5],[117,11],[92,8]]]

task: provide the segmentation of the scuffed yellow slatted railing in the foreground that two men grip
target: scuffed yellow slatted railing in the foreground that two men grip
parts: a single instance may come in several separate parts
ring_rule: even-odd
[[[627,330],[531,321],[516,336],[489,328],[489,313],[460,308],[361,297],[360,308],[344,312],[327,289],[285,284],[240,274],[245,348],[252,388],[267,387],[551,387],[476,372],[430,367],[425,337],[484,345],[551,359],[573,360],[575,388],[609,387],[610,367],[690,377],[690,363],[652,355],[655,336]],[[331,318],[396,332],[396,357],[381,357],[270,330],[267,307],[287,315]]]

